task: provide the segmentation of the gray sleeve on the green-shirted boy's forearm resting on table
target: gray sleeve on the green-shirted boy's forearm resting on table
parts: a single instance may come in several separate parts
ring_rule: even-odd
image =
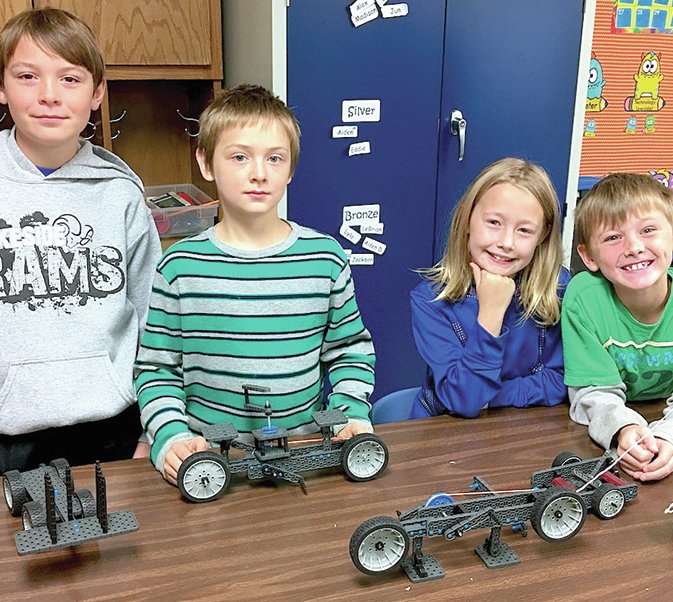
[[[588,426],[589,436],[604,449],[610,449],[612,438],[626,425],[647,424],[638,412],[626,407],[625,391],[624,383],[601,387],[568,387],[570,418]]]

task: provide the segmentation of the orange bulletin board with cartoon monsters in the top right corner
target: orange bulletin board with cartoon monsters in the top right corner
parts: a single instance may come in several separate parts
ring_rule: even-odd
[[[649,173],[673,188],[673,0],[598,0],[582,180]]]

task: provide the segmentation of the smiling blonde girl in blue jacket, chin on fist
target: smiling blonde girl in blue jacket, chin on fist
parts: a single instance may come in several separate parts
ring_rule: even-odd
[[[474,418],[486,406],[552,406],[566,397],[558,198],[547,173],[505,158],[455,208],[446,252],[411,292],[428,373],[411,418]]]

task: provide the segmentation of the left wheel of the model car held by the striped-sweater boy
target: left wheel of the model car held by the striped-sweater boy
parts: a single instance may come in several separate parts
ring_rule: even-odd
[[[196,452],[178,470],[178,489],[190,502],[210,502],[224,495],[231,482],[227,461],[215,452]]]

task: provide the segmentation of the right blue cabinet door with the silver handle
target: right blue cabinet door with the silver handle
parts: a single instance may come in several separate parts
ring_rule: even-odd
[[[435,258],[449,213],[506,156],[533,160],[564,202],[584,0],[447,0]],[[464,159],[451,111],[467,122]]]

